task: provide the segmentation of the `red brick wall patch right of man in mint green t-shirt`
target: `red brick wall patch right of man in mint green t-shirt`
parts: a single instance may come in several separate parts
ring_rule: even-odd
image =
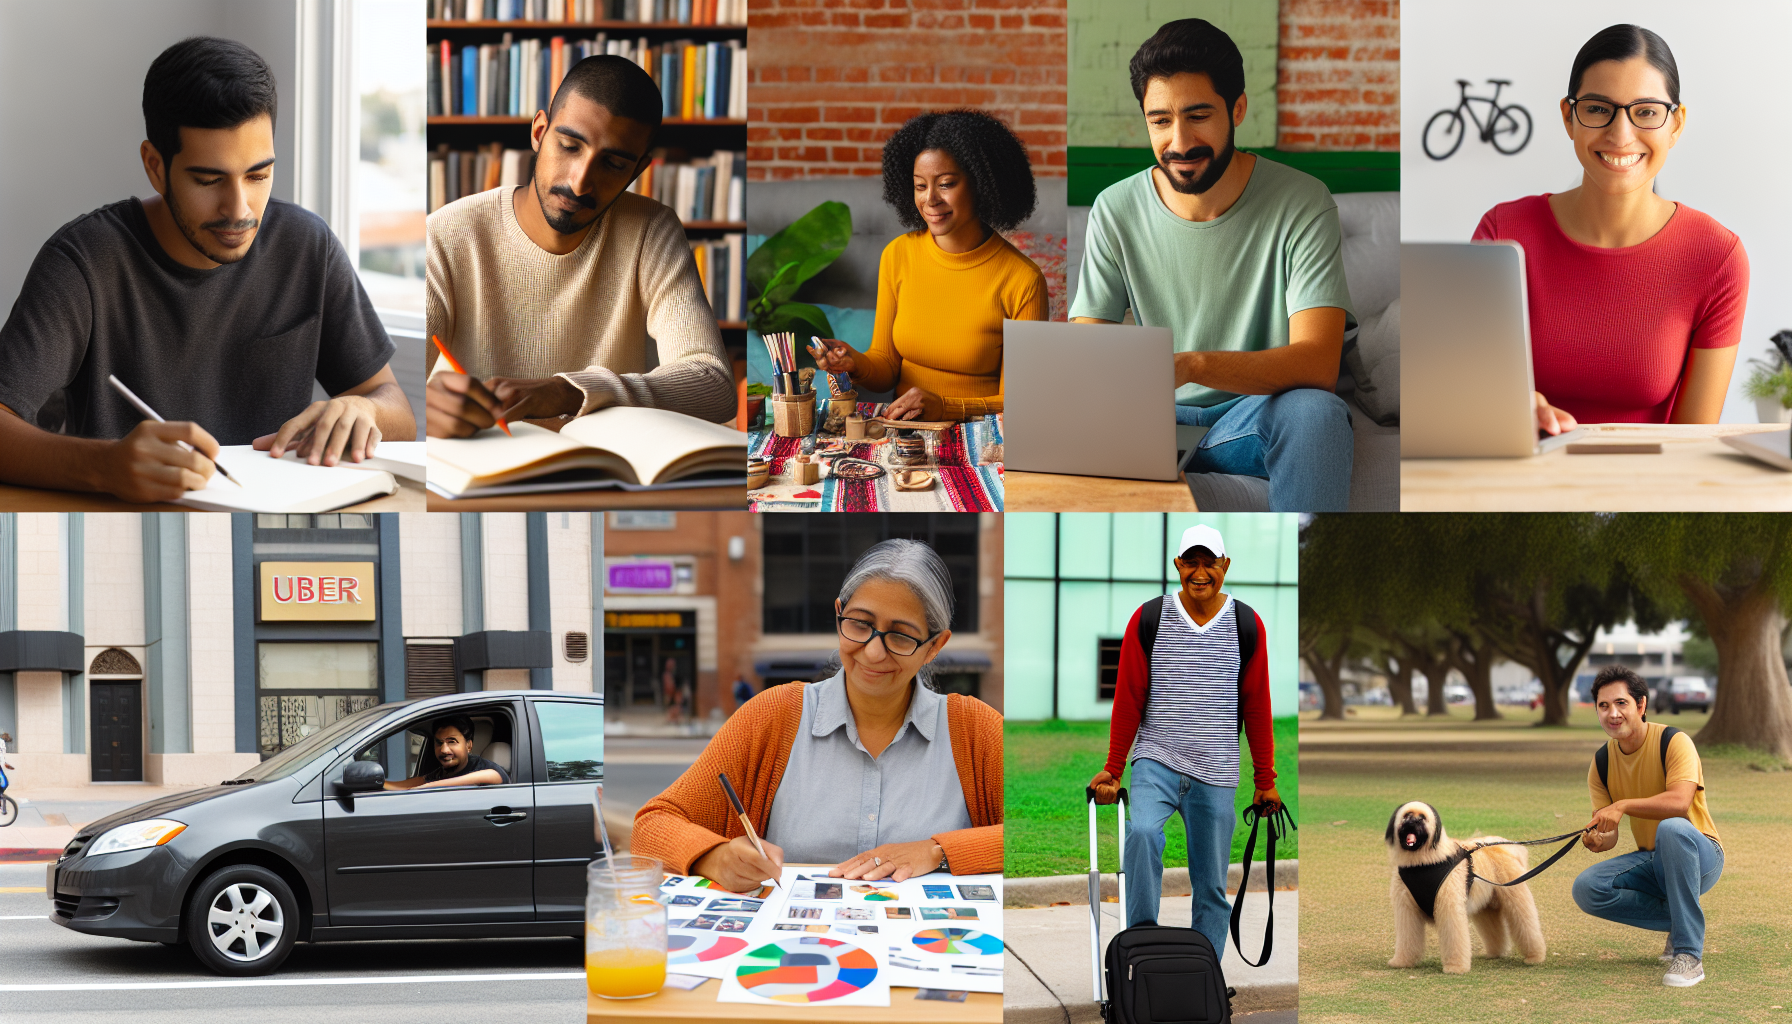
[[[1276,149],[1400,152],[1400,0],[1279,0]]]

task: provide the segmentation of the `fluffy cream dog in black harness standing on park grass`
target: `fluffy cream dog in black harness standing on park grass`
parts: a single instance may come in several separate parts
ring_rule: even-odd
[[[1414,800],[1394,811],[1387,820],[1387,848],[1394,863],[1394,959],[1387,961],[1389,967],[1419,963],[1430,922],[1437,925],[1444,974],[1468,974],[1471,920],[1486,947],[1484,956],[1505,956],[1511,938],[1525,963],[1543,963],[1543,925],[1530,886],[1487,882],[1511,882],[1523,875],[1525,848],[1489,843],[1500,843],[1500,837],[1475,839],[1473,846],[1457,843],[1430,803]]]

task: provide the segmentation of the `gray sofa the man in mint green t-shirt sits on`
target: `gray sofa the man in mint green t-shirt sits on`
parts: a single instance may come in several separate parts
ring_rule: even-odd
[[[1340,192],[1335,199],[1344,276],[1358,323],[1358,334],[1346,344],[1337,386],[1349,404],[1355,436],[1349,508],[1400,511],[1400,194]],[[1072,301],[1088,219],[1088,206],[1070,208]],[[1183,430],[1177,448],[1197,436]],[[1269,481],[1260,477],[1188,473],[1188,488],[1202,511],[1269,511]]]

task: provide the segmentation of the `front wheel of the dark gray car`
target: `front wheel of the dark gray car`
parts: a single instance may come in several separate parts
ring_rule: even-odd
[[[256,864],[210,875],[186,900],[186,943],[217,974],[271,974],[299,929],[299,902],[287,882]]]

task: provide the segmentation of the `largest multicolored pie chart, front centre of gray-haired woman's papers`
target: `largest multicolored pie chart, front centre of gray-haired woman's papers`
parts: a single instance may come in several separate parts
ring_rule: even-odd
[[[869,949],[867,949],[869,947]],[[846,938],[783,934],[731,961],[717,1002],[763,1006],[889,1006],[891,983],[876,947]]]

